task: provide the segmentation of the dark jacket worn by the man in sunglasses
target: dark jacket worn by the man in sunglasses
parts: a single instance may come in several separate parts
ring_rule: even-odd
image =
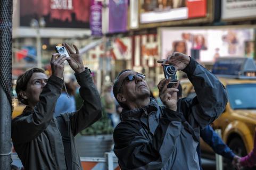
[[[178,100],[177,112],[154,99],[145,108],[123,111],[114,130],[114,152],[125,169],[200,169],[196,147],[200,129],[225,109],[227,94],[220,81],[191,58],[183,70],[197,97]]]

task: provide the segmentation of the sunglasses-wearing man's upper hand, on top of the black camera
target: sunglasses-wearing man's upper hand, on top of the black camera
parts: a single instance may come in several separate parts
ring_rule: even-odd
[[[183,70],[190,62],[190,57],[183,54],[174,52],[172,55],[169,55],[167,59],[159,60],[158,63],[172,64],[176,67],[177,70]]]

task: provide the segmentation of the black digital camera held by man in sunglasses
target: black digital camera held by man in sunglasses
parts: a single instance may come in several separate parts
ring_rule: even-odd
[[[171,81],[168,84],[167,88],[171,88],[172,86],[174,86],[175,83],[178,82],[177,75],[176,75],[176,69],[175,69],[174,65],[163,65],[163,73],[164,73],[164,77],[166,77],[166,79],[171,78]]]

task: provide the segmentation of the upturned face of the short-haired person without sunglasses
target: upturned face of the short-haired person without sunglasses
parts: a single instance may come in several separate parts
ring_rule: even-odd
[[[35,106],[39,102],[39,96],[48,81],[48,77],[44,73],[33,73],[28,81],[25,96],[29,106]]]

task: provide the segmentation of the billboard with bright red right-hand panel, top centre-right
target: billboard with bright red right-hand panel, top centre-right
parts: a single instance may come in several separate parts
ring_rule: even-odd
[[[130,14],[139,9],[137,18],[135,14],[130,18],[130,28],[137,28],[136,20],[139,28],[209,22],[213,20],[212,6],[214,1],[209,0],[130,1]]]

